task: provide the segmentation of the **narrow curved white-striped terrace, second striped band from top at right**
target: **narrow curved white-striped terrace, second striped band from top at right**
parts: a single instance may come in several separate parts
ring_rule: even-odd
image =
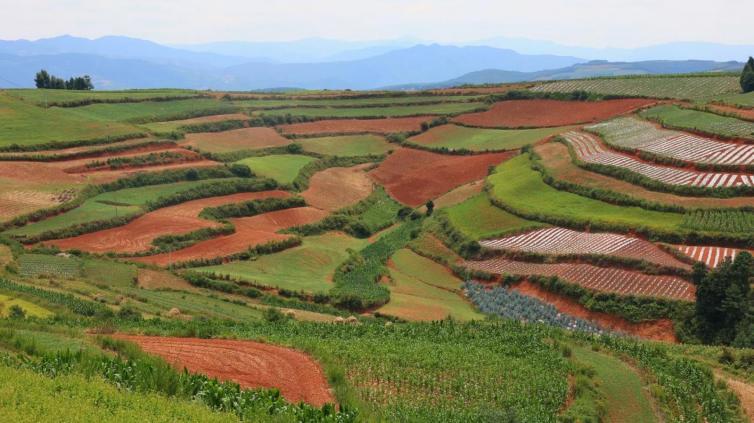
[[[610,151],[602,145],[596,136],[583,132],[567,132],[563,134],[563,139],[573,146],[579,160],[583,162],[621,167],[669,185],[689,185],[703,188],[754,185],[754,176],[751,175],[697,172],[645,163],[631,156]]]

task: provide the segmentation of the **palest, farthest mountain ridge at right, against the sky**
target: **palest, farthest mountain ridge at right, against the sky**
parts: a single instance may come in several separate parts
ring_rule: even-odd
[[[708,42],[675,42],[638,48],[590,48],[566,46],[552,41],[498,37],[472,45],[509,48],[523,54],[555,54],[584,57],[590,60],[637,62],[650,60],[743,61],[754,56],[754,44],[734,45]]]

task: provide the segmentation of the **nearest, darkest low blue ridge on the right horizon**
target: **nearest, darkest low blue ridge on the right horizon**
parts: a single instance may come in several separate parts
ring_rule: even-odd
[[[439,83],[417,83],[386,87],[415,90],[457,87],[461,85],[503,84],[510,82],[546,81],[553,79],[594,78],[622,75],[663,75],[692,72],[740,72],[741,62],[714,62],[709,60],[652,60],[645,62],[608,62],[593,60],[560,69],[536,72],[512,72],[500,69],[485,69],[469,72],[457,78]]]

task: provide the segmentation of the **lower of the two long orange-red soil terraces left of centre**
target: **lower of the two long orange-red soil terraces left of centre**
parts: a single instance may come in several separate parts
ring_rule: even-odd
[[[320,209],[297,207],[252,217],[229,219],[236,227],[236,232],[233,234],[202,241],[171,253],[137,257],[132,261],[167,266],[171,263],[184,261],[226,257],[243,252],[249,247],[287,239],[290,235],[276,232],[293,226],[313,223],[324,219],[326,216],[327,212]]]

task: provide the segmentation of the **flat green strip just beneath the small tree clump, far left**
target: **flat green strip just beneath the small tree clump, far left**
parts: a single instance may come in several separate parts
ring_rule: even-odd
[[[76,91],[76,90],[47,90],[20,89],[7,90],[8,95],[34,103],[38,106],[66,104],[85,101],[145,101],[155,98],[195,97],[200,93],[194,90],[154,89],[154,90],[123,90],[123,91]]]

